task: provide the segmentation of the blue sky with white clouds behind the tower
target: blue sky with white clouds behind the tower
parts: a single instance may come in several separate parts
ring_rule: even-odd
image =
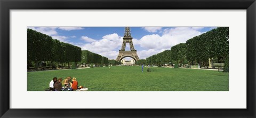
[[[124,35],[124,27],[28,28],[50,35],[61,42],[81,47],[82,50],[99,53],[109,59],[116,59]],[[146,59],[214,28],[216,27],[131,27],[131,35],[139,58]],[[130,49],[128,44],[126,49]]]

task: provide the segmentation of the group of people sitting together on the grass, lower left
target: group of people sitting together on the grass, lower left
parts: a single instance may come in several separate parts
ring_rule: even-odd
[[[50,91],[62,91],[62,90],[73,91],[73,90],[83,88],[83,86],[78,87],[78,81],[75,77],[73,77],[72,80],[71,80],[71,77],[67,77],[63,81],[63,83],[62,83],[62,78],[57,79],[57,77],[54,77],[51,80],[49,87],[50,87],[49,88]]]

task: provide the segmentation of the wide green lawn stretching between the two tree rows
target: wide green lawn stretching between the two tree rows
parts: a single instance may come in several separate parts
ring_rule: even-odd
[[[27,90],[49,88],[53,77],[76,77],[91,91],[228,91],[228,72],[199,69],[114,66],[27,72]]]

